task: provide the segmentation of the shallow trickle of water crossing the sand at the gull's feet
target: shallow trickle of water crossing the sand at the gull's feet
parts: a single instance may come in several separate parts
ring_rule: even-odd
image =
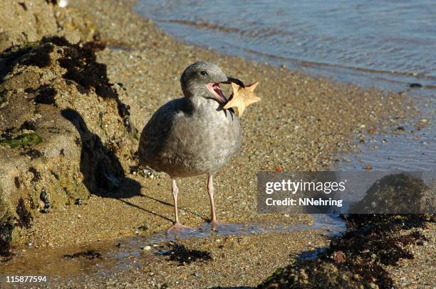
[[[345,223],[337,215],[313,214],[313,224],[256,223],[256,224],[221,224],[218,231],[212,231],[209,224],[204,224],[198,231],[175,237],[166,231],[147,236],[102,241],[88,246],[69,246],[61,249],[27,249],[19,251],[11,261],[0,264],[0,287],[4,276],[47,276],[49,282],[56,280],[97,280],[110,274],[142,266],[156,258],[165,258],[170,241],[185,238],[207,238],[214,236],[243,236],[249,234],[273,234],[291,231],[321,230],[329,236],[339,236],[345,230]],[[149,251],[142,250],[151,246]],[[95,250],[101,258],[70,258],[73,253]],[[164,256],[162,256],[164,255]],[[49,284],[49,283],[48,283]],[[36,285],[36,284],[34,284]]]

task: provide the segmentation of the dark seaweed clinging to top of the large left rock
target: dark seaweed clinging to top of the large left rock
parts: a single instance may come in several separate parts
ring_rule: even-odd
[[[113,84],[108,78],[106,65],[97,62],[95,51],[105,48],[105,43],[100,40],[71,44],[64,37],[51,36],[43,37],[39,43],[12,46],[0,55],[0,78],[12,70],[15,62],[19,62],[21,65],[35,65],[40,68],[48,67],[52,62],[51,53],[55,48],[54,45],[63,48],[58,50],[62,55],[58,59],[58,63],[66,69],[63,79],[67,83],[76,84],[76,88],[81,94],[88,93],[93,88],[99,97],[115,99],[118,114],[123,119],[127,131],[131,133],[130,107],[120,100],[118,92],[113,88]],[[37,104],[54,104],[55,89],[42,86],[38,91],[39,94],[35,97]],[[34,90],[29,88],[25,89],[25,92],[31,93]],[[37,113],[38,109],[35,112]]]

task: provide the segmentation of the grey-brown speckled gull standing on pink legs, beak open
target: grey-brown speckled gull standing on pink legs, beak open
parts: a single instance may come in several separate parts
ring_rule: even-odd
[[[227,77],[209,62],[195,62],[180,77],[184,97],[162,105],[140,136],[141,165],[170,175],[175,223],[168,233],[190,230],[177,214],[177,178],[207,175],[211,227],[217,229],[214,205],[214,174],[239,151],[242,129],[232,109],[224,109],[227,98],[219,84],[244,83]]]

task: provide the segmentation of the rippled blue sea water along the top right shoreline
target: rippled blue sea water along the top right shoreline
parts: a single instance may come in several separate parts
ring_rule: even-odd
[[[436,84],[432,0],[141,0],[137,10],[178,38],[224,52],[416,75]]]

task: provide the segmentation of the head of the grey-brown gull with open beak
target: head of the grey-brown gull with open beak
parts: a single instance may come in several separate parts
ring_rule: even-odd
[[[227,77],[221,68],[213,63],[199,61],[188,66],[180,77],[185,97],[204,97],[219,103],[227,102],[219,84],[234,82],[242,87],[244,83],[236,78]]]

